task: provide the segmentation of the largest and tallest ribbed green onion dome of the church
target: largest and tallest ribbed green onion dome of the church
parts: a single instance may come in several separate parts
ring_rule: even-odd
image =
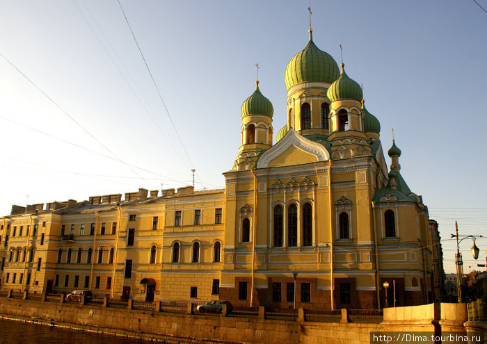
[[[308,81],[333,83],[339,75],[337,63],[333,57],[314,44],[310,30],[308,45],[287,63],[284,81],[286,90],[289,90],[298,83]]]

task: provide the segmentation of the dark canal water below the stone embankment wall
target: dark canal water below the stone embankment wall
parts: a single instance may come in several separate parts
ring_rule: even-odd
[[[0,319],[1,344],[147,344],[141,339]]]

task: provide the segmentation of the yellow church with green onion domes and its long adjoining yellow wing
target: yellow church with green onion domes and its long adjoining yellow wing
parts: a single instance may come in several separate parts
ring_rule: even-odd
[[[395,143],[388,151],[388,171],[380,124],[358,84],[343,65],[337,77],[311,36],[299,54],[321,67],[289,63],[287,124],[276,143],[269,99],[257,86],[244,102],[225,189],[13,206],[0,218],[0,288],[377,309],[388,281],[397,305],[438,300],[438,224],[401,177],[401,151]]]

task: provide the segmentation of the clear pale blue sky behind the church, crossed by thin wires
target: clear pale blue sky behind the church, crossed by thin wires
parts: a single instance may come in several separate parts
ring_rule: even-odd
[[[315,44],[337,63],[342,45],[385,151],[394,128],[401,174],[454,272],[455,220],[459,234],[487,236],[487,0],[477,3],[2,0],[0,213],[179,188],[193,169],[196,190],[223,188],[256,63],[274,133],[285,124],[284,71],[308,43],[310,6]],[[485,270],[487,240],[479,261],[471,246],[460,247],[465,272]]]

